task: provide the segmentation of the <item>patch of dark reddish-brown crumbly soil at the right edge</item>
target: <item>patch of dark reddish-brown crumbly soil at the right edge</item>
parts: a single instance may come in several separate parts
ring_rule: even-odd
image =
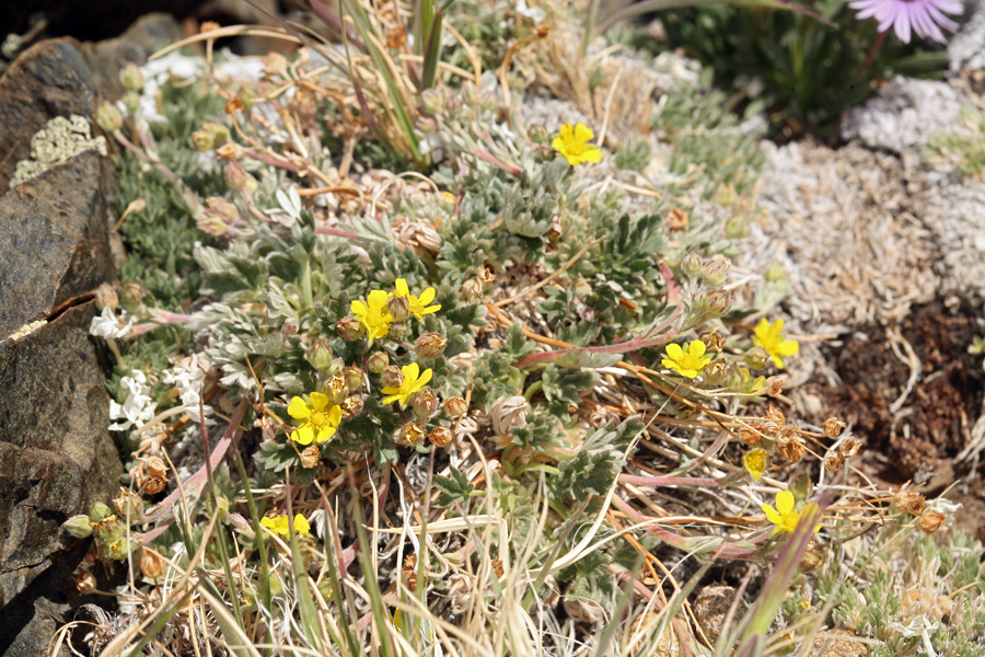
[[[967,302],[949,308],[937,301],[914,307],[895,336],[879,325],[856,331],[823,349],[842,384],[811,392],[824,400],[825,416],[841,417],[862,440],[867,476],[894,487],[923,484],[928,497],[966,481],[947,497],[964,505],[959,525],[985,538],[985,464],[971,472],[969,464],[954,462],[971,440],[985,397],[982,356],[967,351],[981,334],[978,316]],[[918,364],[907,354],[907,343]],[[914,374],[918,378],[903,396]]]

